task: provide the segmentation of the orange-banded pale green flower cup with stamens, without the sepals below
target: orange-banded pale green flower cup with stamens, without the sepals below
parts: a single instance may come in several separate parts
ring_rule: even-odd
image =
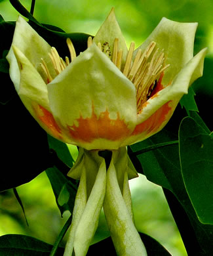
[[[206,49],[193,57],[196,28],[163,18],[128,50],[112,9],[79,56],[68,39],[69,63],[19,17],[7,55],[10,77],[47,133],[87,150],[115,150],[163,129],[203,74]]]

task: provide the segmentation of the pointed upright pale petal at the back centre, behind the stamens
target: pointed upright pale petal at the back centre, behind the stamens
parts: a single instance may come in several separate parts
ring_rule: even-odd
[[[123,62],[126,60],[126,54],[128,52],[128,49],[126,47],[125,37],[123,37],[123,34],[121,32],[121,28],[119,27],[119,24],[115,17],[115,9],[112,8],[109,12],[109,15],[107,16],[106,20],[96,33],[93,41],[98,44],[101,43],[102,45],[104,43],[109,43],[111,55],[113,53],[114,49],[114,41],[115,38],[119,39],[119,49],[123,50]]]

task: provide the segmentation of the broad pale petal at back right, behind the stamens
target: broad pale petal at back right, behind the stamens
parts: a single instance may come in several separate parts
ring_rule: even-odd
[[[170,83],[184,65],[193,58],[196,29],[196,22],[181,23],[163,18],[145,42],[138,47],[144,51],[151,41],[155,41],[156,49],[159,48],[160,51],[164,49],[165,64],[170,64],[163,77],[164,85]]]

